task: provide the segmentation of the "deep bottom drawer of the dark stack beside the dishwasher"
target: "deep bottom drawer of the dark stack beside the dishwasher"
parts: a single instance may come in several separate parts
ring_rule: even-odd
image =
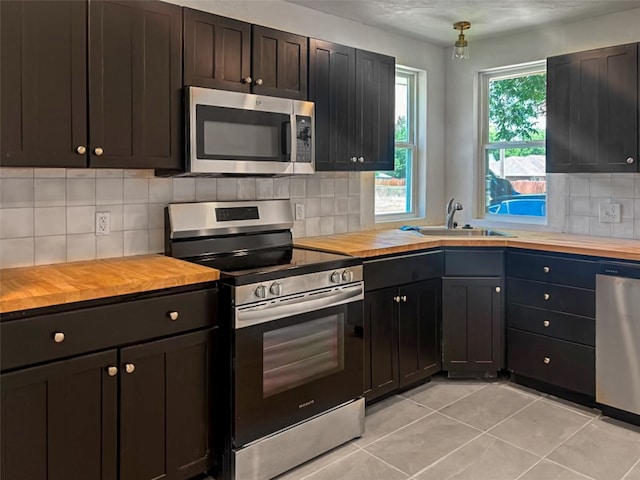
[[[516,374],[595,395],[595,349],[508,329],[507,367]]]

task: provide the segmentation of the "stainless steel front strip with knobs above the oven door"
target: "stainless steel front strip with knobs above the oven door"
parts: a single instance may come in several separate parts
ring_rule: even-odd
[[[233,287],[235,306],[362,281],[362,265]]]

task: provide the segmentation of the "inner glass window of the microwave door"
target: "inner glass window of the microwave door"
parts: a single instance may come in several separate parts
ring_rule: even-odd
[[[229,157],[278,157],[279,133],[280,129],[275,125],[207,120],[204,122],[204,153]]]

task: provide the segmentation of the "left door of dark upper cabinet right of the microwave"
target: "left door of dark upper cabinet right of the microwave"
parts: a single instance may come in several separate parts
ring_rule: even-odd
[[[316,170],[353,170],[356,51],[312,39],[309,100],[315,102]]]

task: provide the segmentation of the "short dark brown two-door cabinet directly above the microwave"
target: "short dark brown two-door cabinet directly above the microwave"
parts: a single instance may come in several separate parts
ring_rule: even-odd
[[[308,39],[184,9],[184,84],[307,99]]]

